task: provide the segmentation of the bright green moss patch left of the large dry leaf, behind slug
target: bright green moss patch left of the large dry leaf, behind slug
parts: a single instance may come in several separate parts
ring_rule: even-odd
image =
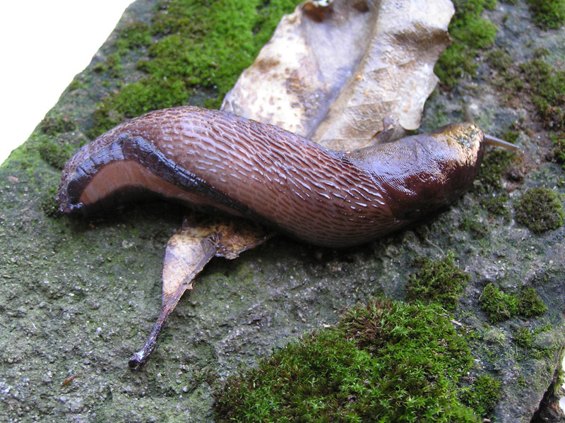
[[[201,90],[213,96],[204,105],[219,107],[239,74],[268,41],[280,17],[298,3],[215,0],[202,7],[197,0],[161,1],[160,13],[151,25],[130,25],[117,41],[117,54],[147,49],[150,60],[140,58],[136,66],[145,76],[124,84],[97,105],[88,136],[95,138],[124,119],[153,109],[184,105]],[[103,64],[94,70],[119,71],[117,64],[112,66]]]

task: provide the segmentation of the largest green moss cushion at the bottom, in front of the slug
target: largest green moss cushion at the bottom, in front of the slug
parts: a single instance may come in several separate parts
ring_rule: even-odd
[[[472,357],[437,306],[376,299],[228,379],[217,422],[477,422],[458,398]]]

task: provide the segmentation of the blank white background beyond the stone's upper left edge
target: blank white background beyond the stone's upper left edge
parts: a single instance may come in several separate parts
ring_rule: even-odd
[[[133,0],[3,1],[0,163],[88,66]]]

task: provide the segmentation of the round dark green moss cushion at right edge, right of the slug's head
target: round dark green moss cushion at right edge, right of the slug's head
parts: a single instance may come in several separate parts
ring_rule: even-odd
[[[516,220],[536,234],[557,229],[564,218],[559,196],[544,187],[528,189],[516,205]]]

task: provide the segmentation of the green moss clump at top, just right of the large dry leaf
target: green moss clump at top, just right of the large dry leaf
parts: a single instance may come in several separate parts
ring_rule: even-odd
[[[477,49],[494,42],[496,25],[481,18],[484,8],[493,8],[493,0],[453,1],[456,13],[449,24],[453,44],[441,55],[434,71],[444,85],[452,88],[462,76],[475,75]]]

